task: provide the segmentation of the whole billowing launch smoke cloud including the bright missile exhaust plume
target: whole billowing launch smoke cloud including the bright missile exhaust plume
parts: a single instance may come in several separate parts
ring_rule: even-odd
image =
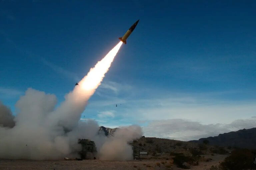
[[[97,122],[79,121],[88,99],[100,85],[122,42],[118,43],[94,68],[91,68],[65,101],[55,109],[56,96],[29,88],[16,103],[17,116],[0,105],[0,158],[63,159],[78,157],[78,138],[94,140],[100,159],[131,159],[128,145],[142,135],[137,126],[121,128],[115,137],[98,134]],[[112,150],[108,150],[112,148]]]

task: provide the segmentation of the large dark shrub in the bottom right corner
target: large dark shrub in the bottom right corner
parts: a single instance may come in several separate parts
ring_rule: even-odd
[[[243,170],[251,168],[253,153],[249,149],[236,149],[220,164],[223,170]]]

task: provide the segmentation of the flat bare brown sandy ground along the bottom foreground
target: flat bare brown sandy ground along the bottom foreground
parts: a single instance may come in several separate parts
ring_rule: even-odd
[[[217,165],[219,161],[224,160],[227,155],[205,155],[205,158],[212,158],[211,162],[199,162],[198,166],[192,166],[192,170],[205,170],[212,165]],[[162,164],[161,162],[167,162]],[[157,165],[160,163],[160,166]],[[0,170],[181,170],[176,165],[171,165],[167,168],[166,165],[170,165],[168,160],[161,159],[145,159],[145,160],[133,160],[133,161],[102,161],[102,160],[82,160],[82,161],[31,161],[31,160],[0,160]]]

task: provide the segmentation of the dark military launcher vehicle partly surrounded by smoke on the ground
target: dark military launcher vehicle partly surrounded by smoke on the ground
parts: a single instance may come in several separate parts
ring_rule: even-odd
[[[94,141],[78,139],[78,143],[82,145],[82,150],[79,152],[81,159],[96,159],[97,148]]]

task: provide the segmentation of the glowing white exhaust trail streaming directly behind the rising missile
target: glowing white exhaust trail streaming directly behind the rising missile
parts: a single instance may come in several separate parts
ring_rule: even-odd
[[[88,74],[78,83],[79,85],[75,86],[74,90],[66,95],[65,101],[61,106],[51,114],[54,119],[50,120],[58,120],[58,124],[67,129],[72,129],[77,125],[87,101],[100,85],[122,43],[119,42],[102,60],[90,69]]]

